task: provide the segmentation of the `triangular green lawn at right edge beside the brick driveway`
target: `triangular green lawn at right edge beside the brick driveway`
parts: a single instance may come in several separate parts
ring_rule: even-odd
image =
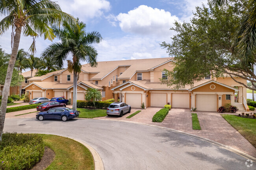
[[[222,115],[222,117],[256,147],[256,119],[243,118],[235,115]]]

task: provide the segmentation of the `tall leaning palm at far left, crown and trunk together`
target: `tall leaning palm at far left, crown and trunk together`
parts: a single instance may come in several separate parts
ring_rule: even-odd
[[[62,12],[59,5],[51,0],[0,0],[0,15],[4,16],[0,21],[0,35],[9,28],[13,30],[12,52],[7,75],[13,73],[21,33],[25,37],[33,38],[33,44],[30,47],[33,53],[35,52],[35,38],[39,36],[49,40],[55,38],[50,26],[61,24],[62,21],[69,24],[76,23],[73,16]],[[78,27],[77,31],[79,31]],[[0,141],[2,141],[10,84],[11,76],[6,76],[0,108]]]

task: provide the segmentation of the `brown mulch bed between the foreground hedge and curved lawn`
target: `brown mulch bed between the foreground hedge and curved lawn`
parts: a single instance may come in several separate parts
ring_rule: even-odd
[[[55,153],[48,147],[45,147],[45,153],[42,159],[35,164],[35,166],[31,170],[45,170],[54,160]]]

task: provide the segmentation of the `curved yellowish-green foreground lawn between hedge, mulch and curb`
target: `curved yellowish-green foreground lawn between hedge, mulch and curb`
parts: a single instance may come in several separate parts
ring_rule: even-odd
[[[55,159],[46,170],[94,170],[91,152],[81,143],[57,135],[39,134],[45,146],[55,152]]]

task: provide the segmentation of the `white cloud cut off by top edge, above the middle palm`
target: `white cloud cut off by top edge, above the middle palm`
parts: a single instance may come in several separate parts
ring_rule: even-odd
[[[65,3],[61,3],[63,11],[83,20],[100,17],[110,8],[111,5],[107,0],[66,0]]]

